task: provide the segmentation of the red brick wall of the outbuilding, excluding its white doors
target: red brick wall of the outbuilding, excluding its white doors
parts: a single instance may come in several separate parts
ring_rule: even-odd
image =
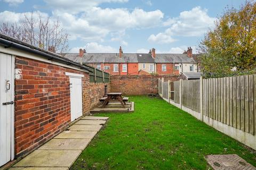
[[[15,57],[15,69],[20,69],[22,75],[15,80],[16,157],[34,150],[69,125],[70,90],[65,72],[84,74],[84,114],[103,96],[104,84],[90,83],[86,72],[23,57]]]

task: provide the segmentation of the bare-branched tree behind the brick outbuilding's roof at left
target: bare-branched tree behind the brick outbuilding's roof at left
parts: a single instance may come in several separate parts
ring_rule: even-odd
[[[25,14],[19,23],[3,22],[0,32],[42,49],[50,47],[61,54],[68,50],[69,35],[60,27],[59,19],[35,17],[33,12],[29,16]]]

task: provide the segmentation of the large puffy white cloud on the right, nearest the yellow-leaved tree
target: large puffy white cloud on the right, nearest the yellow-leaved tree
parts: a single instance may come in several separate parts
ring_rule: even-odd
[[[164,32],[157,35],[150,35],[148,41],[154,43],[172,43],[173,36],[195,37],[203,35],[207,29],[214,26],[216,18],[211,18],[206,9],[200,6],[192,8],[190,11],[183,11],[178,18],[168,19],[163,23],[169,26]]]

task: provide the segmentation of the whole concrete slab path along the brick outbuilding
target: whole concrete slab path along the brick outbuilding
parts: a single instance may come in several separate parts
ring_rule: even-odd
[[[10,170],[67,170],[100,131],[108,117],[84,116]]]

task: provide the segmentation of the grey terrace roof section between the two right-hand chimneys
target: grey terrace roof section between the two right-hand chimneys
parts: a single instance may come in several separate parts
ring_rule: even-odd
[[[156,63],[194,63],[187,54],[156,54]]]

